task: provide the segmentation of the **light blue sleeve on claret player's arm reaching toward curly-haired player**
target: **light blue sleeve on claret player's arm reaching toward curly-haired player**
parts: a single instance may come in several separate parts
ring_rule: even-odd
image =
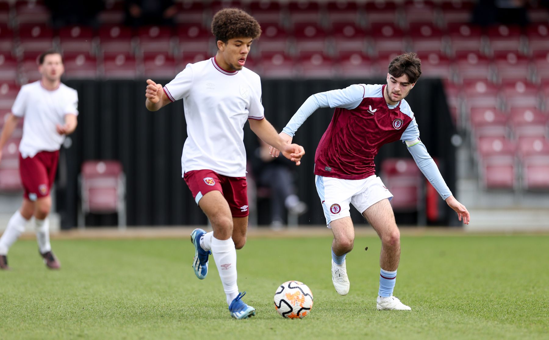
[[[282,132],[293,137],[305,120],[320,108],[354,109],[362,102],[364,94],[365,86],[360,84],[313,94],[296,111]]]

